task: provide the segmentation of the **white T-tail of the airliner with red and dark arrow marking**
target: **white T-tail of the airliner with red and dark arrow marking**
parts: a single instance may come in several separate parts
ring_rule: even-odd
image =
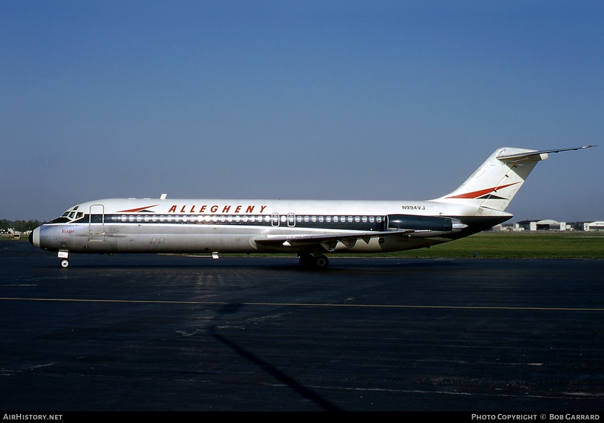
[[[435,199],[445,203],[476,206],[503,212],[520,189],[535,165],[548,153],[579,150],[585,147],[559,150],[527,150],[526,148],[499,148],[455,191]]]

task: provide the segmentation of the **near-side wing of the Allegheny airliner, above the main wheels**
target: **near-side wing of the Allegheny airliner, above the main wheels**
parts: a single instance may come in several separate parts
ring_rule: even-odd
[[[397,231],[384,231],[384,232],[347,232],[345,234],[333,234],[333,235],[268,235],[266,238],[256,238],[254,241],[263,246],[272,247],[310,247],[310,246],[321,246],[327,251],[333,252],[338,243],[342,243],[345,246],[352,248],[355,246],[356,241],[363,240],[365,243],[369,243],[371,238],[377,237],[409,237],[411,234],[424,232],[432,232],[429,230],[417,231],[414,229],[399,229]]]

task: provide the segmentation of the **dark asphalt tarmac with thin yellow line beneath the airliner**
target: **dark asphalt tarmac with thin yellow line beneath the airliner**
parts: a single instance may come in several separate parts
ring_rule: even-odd
[[[0,241],[0,411],[589,413],[604,260],[72,255]]]

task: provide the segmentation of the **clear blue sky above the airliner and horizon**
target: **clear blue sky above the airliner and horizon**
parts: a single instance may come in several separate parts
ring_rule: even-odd
[[[498,147],[603,144],[599,1],[0,2],[0,218],[107,197],[439,197]],[[604,219],[604,146],[513,221]]]

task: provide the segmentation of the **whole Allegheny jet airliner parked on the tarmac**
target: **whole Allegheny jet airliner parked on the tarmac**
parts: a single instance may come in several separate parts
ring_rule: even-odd
[[[104,199],[72,206],[34,229],[30,243],[70,253],[295,253],[325,269],[326,254],[431,247],[512,218],[505,212],[549,153],[594,147],[498,148],[455,191],[426,201]]]

